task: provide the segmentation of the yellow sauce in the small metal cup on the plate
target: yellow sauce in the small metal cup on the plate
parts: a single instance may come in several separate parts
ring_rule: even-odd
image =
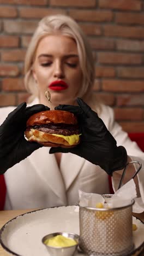
[[[47,239],[44,243],[45,245],[52,247],[69,247],[77,244],[74,239],[62,235],[51,237]]]

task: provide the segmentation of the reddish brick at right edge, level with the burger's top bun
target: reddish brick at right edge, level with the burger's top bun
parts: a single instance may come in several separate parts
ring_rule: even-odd
[[[143,109],[142,108],[115,108],[116,120],[142,120]]]

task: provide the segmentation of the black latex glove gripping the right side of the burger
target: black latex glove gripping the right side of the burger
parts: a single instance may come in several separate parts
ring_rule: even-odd
[[[127,151],[117,147],[117,142],[107,130],[103,120],[81,98],[79,106],[59,105],[55,109],[66,110],[77,115],[82,133],[81,142],[75,148],[51,148],[56,152],[73,153],[103,168],[112,176],[113,171],[121,170],[127,164]]]

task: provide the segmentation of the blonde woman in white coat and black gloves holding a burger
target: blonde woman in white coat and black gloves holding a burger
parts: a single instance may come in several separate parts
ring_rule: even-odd
[[[92,50],[77,23],[65,15],[42,19],[26,54],[25,85],[32,95],[28,107],[21,103],[16,109],[0,109],[0,171],[5,172],[7,187],[5,210],[75,205],[79,189],[109,193],[107,174],[112,176],[116,190],[128,161],[139,160],[143,164],[144,154],[115,122],[113,110],[93,97],[93,82]],[[50,149],[27,142],[23,136],[28,117],[49,109],[47,90],[53,108],[69,110],[79,118],[79,146]],[[135,168],[130,166],[124,183],[134,173]],[[143,170],[135,183],[137,195],[144,202]]]

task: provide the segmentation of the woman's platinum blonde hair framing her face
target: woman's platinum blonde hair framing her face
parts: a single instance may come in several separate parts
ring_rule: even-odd
[[[76,96],[83,98],[88,103],[92,97],[94,83],[94,60],[91,46],[80,26],[69,16],[61,14],[43,18],[33,34],[25,59],[25,86],[27,91],[34,97],[38,96],[37,84],[32,74],[32,65],[40,40],[49,34],[63,34],[75,40],[83,74],[82,86]]]

